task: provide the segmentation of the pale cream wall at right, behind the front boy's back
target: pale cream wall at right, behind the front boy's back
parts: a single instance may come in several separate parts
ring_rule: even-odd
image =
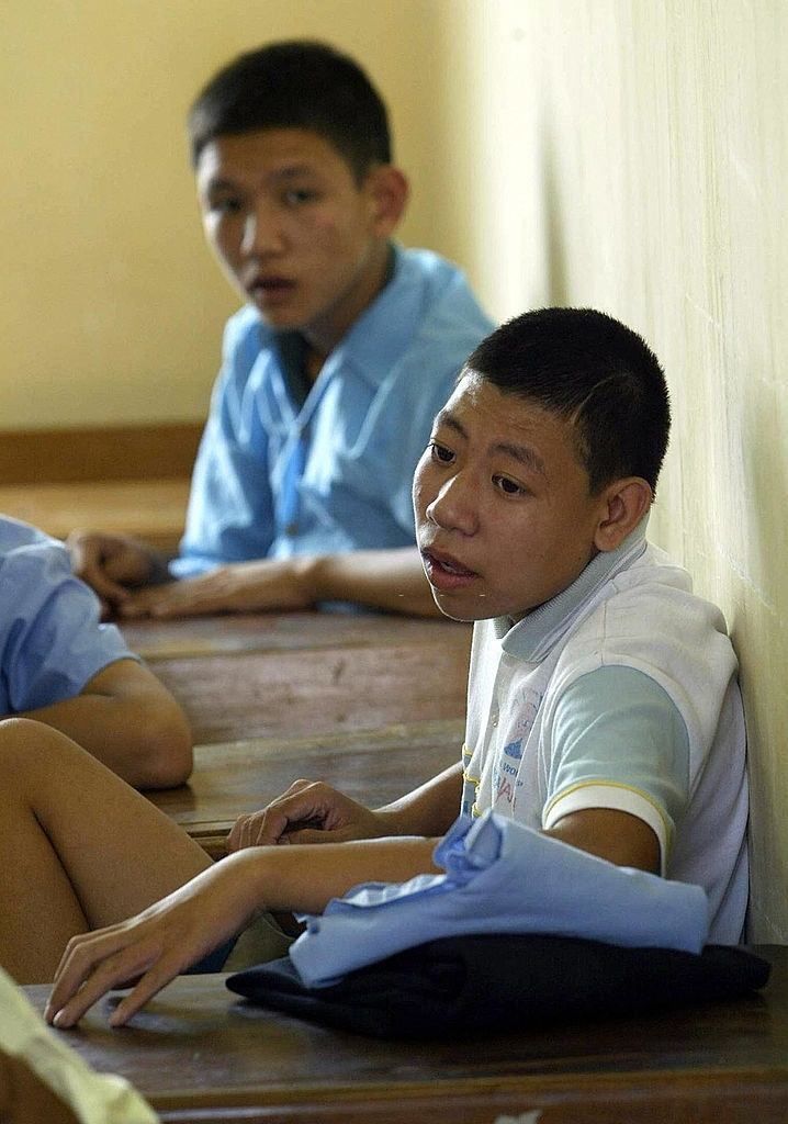
[[[652,537],[726,614],[749,718],[751,930],[788,941],[788,6],[460,0],[451,28],[478,170],[458,253],[490,308],[596,306],[665,365]]]

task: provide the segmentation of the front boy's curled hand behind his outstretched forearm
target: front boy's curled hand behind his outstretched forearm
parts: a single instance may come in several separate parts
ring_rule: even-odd
[[[262,812],[239,816],[228,851],[273,843],[344,843],[393,834],[380,817],[323,781],[297,780]]]

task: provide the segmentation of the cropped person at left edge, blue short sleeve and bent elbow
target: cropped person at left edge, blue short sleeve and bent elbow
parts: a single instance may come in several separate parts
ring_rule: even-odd
[[[54,726],[130,785],[181,785],[185,718],[99,608],[62,543],[0,516],[0,718]]]

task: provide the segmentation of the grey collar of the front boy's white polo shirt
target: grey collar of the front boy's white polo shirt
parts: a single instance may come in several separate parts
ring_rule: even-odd
[[[517,624],[510,617],[496,617],[492,627],[501,647],[508,655],[529,663],[538,663],[577,619],[578,611],[608,581],[626,570],[646,549],[645,515],[621,546],[615,551],[600,551],[588,563],[571,586],[540,605]]]

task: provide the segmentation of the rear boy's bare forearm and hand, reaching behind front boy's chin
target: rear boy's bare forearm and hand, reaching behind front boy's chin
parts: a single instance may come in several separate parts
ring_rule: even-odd
[[[440,616],[415,546],[237,562],[128,592],[118,609],[125,617],[178,617],[307,609],[320,601]]]

